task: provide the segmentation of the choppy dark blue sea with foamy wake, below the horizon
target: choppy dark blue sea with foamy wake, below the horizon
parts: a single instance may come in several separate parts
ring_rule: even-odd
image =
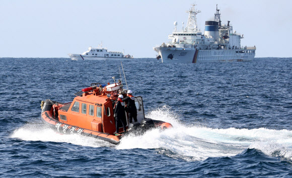
[[[127,86],[143,97],[145,116],[174,128],[119,145],[55,133],[42,123],[40,104],[71,102],[92,82],[112,83],[120,61],[0,62],[1,177],[292,176],[292,58],[124,60]]]

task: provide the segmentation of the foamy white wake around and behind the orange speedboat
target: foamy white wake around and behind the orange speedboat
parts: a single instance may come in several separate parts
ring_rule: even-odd
[[[255,148],[268,156],[292,159],[292,131],[259,129],[212,129],[202,126],[185,126],[172,111],[163,107],[149,112],[146,117],[171,123],[168,130],[153,129],[144,135],[129,135],[114,146],[110,143],[81,135],[60,135],[40,124],[27,124],[11,135],[28,141],[66,142],[90,147],[116,149],[157,149],[159,153],[186,160],[203,160],[208,157],[234,156],[247,148]],[[42,127],[41,127],[42,126]]]

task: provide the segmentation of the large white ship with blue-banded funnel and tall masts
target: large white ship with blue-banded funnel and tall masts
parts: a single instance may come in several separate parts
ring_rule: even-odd
[[[254,59],[256,47],[241,47],[243,35],[233,31],[230,21],[221,24],[220,13],[216,8],[214,21],[205,22],[202,34],[197,29],[196,15],[201,11],[191,5],[187,26],[183,31],[176,29],[168,36],[172,40],[153,49],[158,53],[157,59],[164,63],[196,63],[213,61],[251,61]],[[184,23],[183,23],[184,24]]]

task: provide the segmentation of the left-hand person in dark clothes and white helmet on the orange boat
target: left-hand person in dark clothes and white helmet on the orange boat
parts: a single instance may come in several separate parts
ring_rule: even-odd
[[[126,118],[125,118],[125,106],[124,106],[124,102],[122,101],[124,97],[122,95],[119,95],[118,97],[118,101],[116,102],[114,109],[115,109],[115,113],[114,113],[114,118],[116,120],[116,132],[115,133],[119,133],[119,122],[122,123],[123,127],[124,127],[124,132],[126,131]]]

